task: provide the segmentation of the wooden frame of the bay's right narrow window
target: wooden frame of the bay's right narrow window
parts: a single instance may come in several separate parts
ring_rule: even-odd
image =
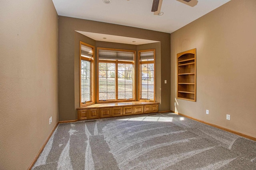
[[[154,52],[154,61],[140,61],[140,53],[142,52],[148,52],[153,51]],[[139,58],[139,93],[140,93],[140,102],[155,102],[156,101],[156,49],[147,49],[147,50],[139,50],[138,51],[138,58]],[[154,99],[153,100],[146,100],[142,99],[142,76],[141,76],[141,64],[154,64]]]

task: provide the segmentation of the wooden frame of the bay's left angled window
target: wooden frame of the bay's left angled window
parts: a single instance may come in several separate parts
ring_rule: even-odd
[[[90,47],[92,48],[92,58],[89,59],[87,57],[82,57],[81,55],[81,45],[85,45],[87,47]],[[88,105],[91,105],[91,104],[95,104],[94,102],[94,50],[95,50],[95,47],[90,45],[90,44],[87,44],[87,43],[84,43],[82,41],[79,41],[79,90],[80,90],[80,107],[84,107],[84,106],[88,106]],[[91,68],[90,68],[90,95],[91,95],[91,100],[90,101],[87,101],[85,103],[82,103],[81,101],[81,60],[85,60],[85,61],[90,61],[91,62]]]

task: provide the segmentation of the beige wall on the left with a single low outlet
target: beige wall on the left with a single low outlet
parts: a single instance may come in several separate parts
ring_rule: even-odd
[[[52,0],[0,8],[0,169],[24,170],[58,122],[58,16]]]

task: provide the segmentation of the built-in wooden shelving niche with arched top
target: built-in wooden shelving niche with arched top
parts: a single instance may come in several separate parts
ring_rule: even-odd
[[[196,102],[196,49],[177,54],[177,98]]]

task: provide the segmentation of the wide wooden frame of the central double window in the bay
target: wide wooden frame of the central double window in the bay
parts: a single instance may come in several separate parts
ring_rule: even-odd
[[[134,61],[118,61],[118,60],[105,60],[99,59],[99,50],[110,50],[110,51],[125,51],[134,53]],[[115,100],[99,100],[99,63],[115,63],[115,92],[116,99]],[[118,64],[133,64],[133,99],[129,100],[118,100]],[[97,67],[96,67],[96,75],[97,75],[97,103],[112,103],[112,102],[132,102],[136,98],[136,51],[134,50],[125,50],[125,49],[111,49],[111,48],[103,48],[97,47]]]

